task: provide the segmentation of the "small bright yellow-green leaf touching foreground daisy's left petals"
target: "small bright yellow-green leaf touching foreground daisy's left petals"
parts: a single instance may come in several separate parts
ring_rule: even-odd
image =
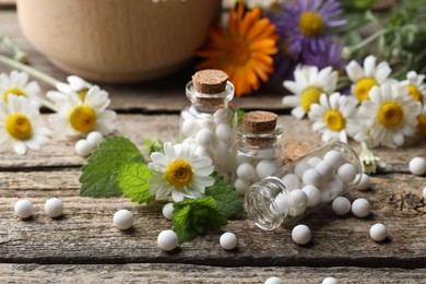
[[[125,164],[118,168],[117,184],[131,201],[150,203],[155,199],[147,182],[152,175],[145,163]]]

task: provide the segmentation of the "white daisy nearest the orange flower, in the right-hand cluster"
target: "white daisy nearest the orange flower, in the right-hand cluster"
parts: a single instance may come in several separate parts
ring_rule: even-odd
[[[301,119],[309,113],[312,104],[319,103],[320,95],[330,95],[338,85],[338,71],[327,67],[318,71],[317,67],[297,66],[294,71],[295,81],[284,81],[284,87],[293,96],[284,96],[283,104],[294,107],[292,115]]]

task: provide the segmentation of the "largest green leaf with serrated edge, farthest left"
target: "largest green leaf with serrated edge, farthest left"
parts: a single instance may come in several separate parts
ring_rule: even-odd
[[[131,162],[144,163],[138,147],[123,137],[107,138],[81,169],[80,196],[95,198],[120,196],[116,171],[120,165]]]

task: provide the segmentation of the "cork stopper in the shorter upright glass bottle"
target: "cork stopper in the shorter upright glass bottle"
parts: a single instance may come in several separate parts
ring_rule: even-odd
[[[277,115],[271,111],[256,110],[242,116],[242,129],[253,134],[270,133],[275,130]]]

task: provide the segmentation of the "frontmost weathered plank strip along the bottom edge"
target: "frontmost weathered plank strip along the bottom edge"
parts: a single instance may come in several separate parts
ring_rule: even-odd
[[[425,269],[365,268],[215,268],[190,264],[39,265],[1,264],[1,283],[263,283],[277,276],[284,283],[421,283]]]

